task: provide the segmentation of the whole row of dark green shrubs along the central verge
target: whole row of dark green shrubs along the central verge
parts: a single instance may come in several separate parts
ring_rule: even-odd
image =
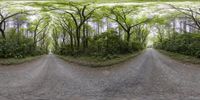
[[[133,41],[128,44],[127,41],[122,39],[118,32],[114,31],[114,29],[110,29],[106,32],[95,35],[94,37],[90,37],[88,48],[83,48],[81,50],[72,50],[70,48],[70,44],[58,45],[57,35],[58,34],[53,34],[53,38],[55,39],[54,49],[56,48],[54,53],[60,55],[89,55],[103,59],[112,59],[118,54],[127,54],[143,49],[141,43],[139,42]]]

